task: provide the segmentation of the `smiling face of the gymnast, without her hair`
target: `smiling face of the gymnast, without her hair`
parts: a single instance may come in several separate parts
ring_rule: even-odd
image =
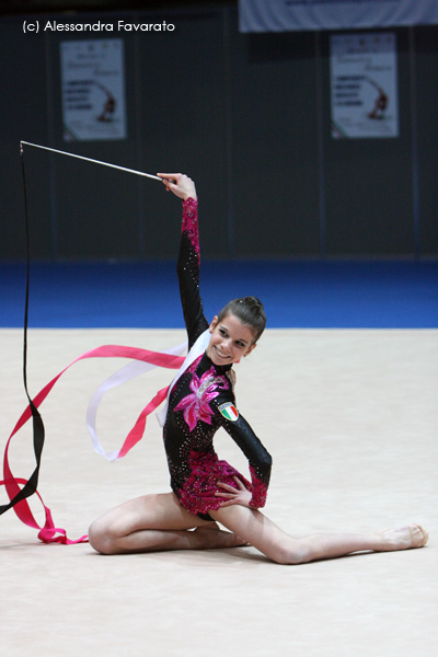
[[[220,322],[216,315],[209,328],[211,333],[207,356],[215,365],[239,362],[255,348],[254,333],[251,326],[243,324],[229,313]]]

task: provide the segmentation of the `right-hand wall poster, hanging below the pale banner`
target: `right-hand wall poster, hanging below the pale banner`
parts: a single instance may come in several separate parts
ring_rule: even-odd
[[[332,137],[399,137],[395,34],[332,35],[330,47]]]

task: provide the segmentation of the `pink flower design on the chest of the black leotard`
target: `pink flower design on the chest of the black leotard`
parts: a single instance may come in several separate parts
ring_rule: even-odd
[[[229,388],[224,377],[215,376],[207,370],[199,379],[196,372],[193,372],[189,382],[193,394],[187,394],[174,408],[174,411],[184,411],[184,419],[191,431],[196,427],[198,419],[211,424],[215,411],[211,410],[210,402],[218,396],[219,387],[222,390]]]

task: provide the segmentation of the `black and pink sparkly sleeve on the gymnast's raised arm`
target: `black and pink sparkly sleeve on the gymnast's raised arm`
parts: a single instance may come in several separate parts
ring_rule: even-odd
[[[180,254],[176,265],[180,281],[181,303],[188,335],[188,347],[208,328],[199,293],[199,231],[198,201],[183,201]]]

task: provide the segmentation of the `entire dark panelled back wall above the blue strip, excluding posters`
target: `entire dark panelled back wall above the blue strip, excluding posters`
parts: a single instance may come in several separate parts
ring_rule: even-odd
[[[176,30],[110,35],[125,46],[127,139],[73,143],[62,139],[59,43],[107,35],[28,35],[22,18],[0,20],[0,258],[24,256],[20,139],[188,173],[204,257],[438,254],[438,26],[394,31],[399,138],[334,140],[330,33],[243,35],[220,2],[135,16]],[[43,151],[25,161],[34,257],[175,256],[180,204],[159,183]]]

